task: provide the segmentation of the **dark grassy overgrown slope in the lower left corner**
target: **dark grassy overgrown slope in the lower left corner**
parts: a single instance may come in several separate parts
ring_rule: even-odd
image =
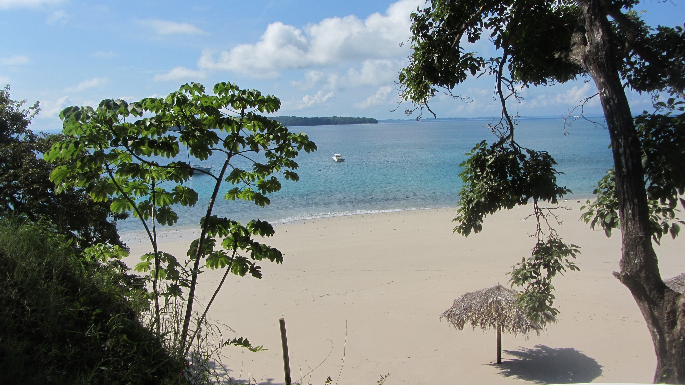
[[[143,327],[145,283],[86,261],[27,219],[0,220],[0,367],[6,384],[162,384],[178,362]]]

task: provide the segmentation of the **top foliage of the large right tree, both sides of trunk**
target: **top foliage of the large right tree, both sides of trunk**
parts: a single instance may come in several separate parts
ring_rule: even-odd
[[[619,51],[621,75],[640,92],[685,86],[685,32],[682,27],[651,29],[632,11],[638,1],[607,1],[605,12]],[[626,14],[621,8],[626,8]],[[412,54],[399,74],[401,96],[427,105],[440,88],[451,90],[469,75],[495,75],[521,86],[563,83],[586,75],[571,60],[577,45],[580,8],[577,1],[433,0],[412,13]],[[469,44],[486,35],[500,57],[484,58]],[[660,53],[660,54],[656,54]],[[499,70],[508,70],[508,75]],[[499,80],[498,80],[499,82]]]

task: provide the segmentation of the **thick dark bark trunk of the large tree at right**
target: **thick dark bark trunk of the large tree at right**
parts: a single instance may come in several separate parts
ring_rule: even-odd
[[[616,167],[616,197],[621,219],[621,272],[656,351],[656,383],[685,384],[685,303],[661,279],[651,244],[649,208],[640,143],[621,84],[612,32],[601,0],[578,0],[584,27],[582,64],[595,80],[606,116]]]

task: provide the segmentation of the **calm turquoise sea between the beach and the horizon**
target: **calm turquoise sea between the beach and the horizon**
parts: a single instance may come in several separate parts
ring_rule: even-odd
[[[374,125],[328,125],[292,127],[306,132],[319,151],[297,157],[299,182],[282,180],[283,189],[270,195],[266,208],[251,202],[225,201],[225,186],[214,206],[214,214],[238,221],[262,219],[286,222],[318,218],[456,206],[462,186],[459,164],[481,140],[492,142],[495,136],[482,127],[488,120],[407,121]],[[556,119],[521,119],[516,140],[523,146],[549,151],[564,175],[562,186],[573,190],[569,199],[592,195],[593,186],[612,166],[606,129],[592,123],[577,122],[567,129]],[[341,153],[345,162],[334,162]],[[186,159],[187,161],[187,159]],[[219,168],[223,161],[194,161]],[[241,164],[248,167],[248,164]],[[177,227],[198,227],[206,212],[213,179],[206,175],[192,177],[189,186],[199,193],[195,208],[176,207]],[[137,232],[134,219],[119,224],[121,232]]]

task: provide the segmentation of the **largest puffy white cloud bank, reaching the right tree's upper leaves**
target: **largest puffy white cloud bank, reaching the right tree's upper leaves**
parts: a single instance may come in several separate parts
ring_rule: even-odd
[[[264,77],[285,69],[398,58],[409,52],[408,45],[400,47],[399,43],[410,37],[410,13],[421,3],[400,0],[385,14],[371,14],[364,20],[354,15],[325,18],[303,29],[271,23],[255,44],[204,51],[198,66]]]

